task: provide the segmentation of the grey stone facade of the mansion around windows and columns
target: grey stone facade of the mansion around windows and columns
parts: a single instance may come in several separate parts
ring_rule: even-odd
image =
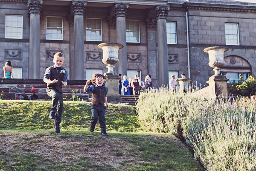
[[[116,72],[120,67],[122,69],[127,67],[127,70],[138,70],[141,71],[142,80],[146,75],[151,74],[154,87],[166,84],[167,70],[178,72],[178,75],[184,72],[187,77],[193,79],[193,84],[200,86],[200,84],[207,84],[209,77],[214,74],[208,65],[208,55],[203,52],[203,49],[209,46],[225,46],[229,50],[224,53],[224,57],[236,56],[248,63],[244,69],[229,65],[228,71],[242,72],[246,69],[250,74],[256,74],[256,3],[228,0],[90,0],[90,2],[83,1],[84,5],[81,7],[83,11],[80,10],[77,13],[71,0],[43,1],[40,11],[40,47],[36,47],[40,52],[32,53],[31,51],[35,47],[33,48],[29,44],[37,39],[30,37],[31,28],[35,29],[31,23],[35,19],[31,17],[32,12],[29,11],[28,1],[0,1],[0,64],[3,66],[6,59],[11,60],[13,67],[22,67],[22,78],[31,78],[29,75],[33,75],[33,77],[39,75],[39,78],[43,78],[45,69],[53,64],[52,56],[55,52],[64,53],[63,67],[68,71],[69,79],[86,80],[87,69],[101,69],[103,73],[107,72],[106,65],[101,61],[102,49],[99,49],[97,45],[102,42],[124,41],[119,34],[125,34],[125,32],[122,30],[121,33],[118,33],[116,29],[119,28],[119,20],[122,17],[125,17],[125,20],[140,21],[140,41],[138,43],[126,41],[126,52],[120,53],[122,55],[119,56],[123,62],[116,64]],[[115,6],[121,3],[128,6],[126,13],[116,14]],[[159,14],[155,13],[157,6],[161,8],[165,6],[168,9],[163,14],[166,19],[162,17],[159,19]],[[189,26],[189,64],[186,12]],[[22,39],[6,38],[7,14],[23,16]],[[79,20],[83,21],[83,29],[78,28],[79,24],[76,26],[76,22],[74,23],[74,15],[79,15]],[[62,17],[63,40],[47,40],[47,17]],[[86,41],[86,18],[101,19],[102,41]],[[167,44],[157,37],[162,34],[162,37],[165,38],[165,28],[157,29],[157,27],[160,28],[157,24],[162,25],[165,22],[176,23],[176,44]],[[239,24],[238,46],[226,45],[225,23]],[[84,49],[77,48],[78,45],[76,45],[79,33],[83,33],[80,35],[84,40],[82,45],[81,42],[79,43],[79,46],[83,46]],[[161,53],[162,49],[165,51],[164,47],[166,46],[167,58],[166,53]],[[31,54],[37,53],[38,55],[31,56]],[[80,53],[84,54],[84,57],[81,58]],[[80,57],[76,54],[79,54]],[[35,61],[35,64],[31,64],[31,60]],[[39,67],[37,67],[37,62]],[[190,75],[188,75],[188,68]],[[126,71],[122,72],[124,72],[122,75],[127,73]],[[3,75],[3,70],[0,70],[0,74]]]

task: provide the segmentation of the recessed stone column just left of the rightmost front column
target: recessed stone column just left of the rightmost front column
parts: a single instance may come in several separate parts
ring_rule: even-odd
[[[151,75],[153,87],[158,88],[157,73],[157,20],[146,18],[148,31],[148,73]]]

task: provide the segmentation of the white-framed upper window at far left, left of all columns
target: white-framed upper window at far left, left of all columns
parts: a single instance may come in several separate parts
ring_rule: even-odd
[[[6,15],[5,38],[22,39],[23,16]]]

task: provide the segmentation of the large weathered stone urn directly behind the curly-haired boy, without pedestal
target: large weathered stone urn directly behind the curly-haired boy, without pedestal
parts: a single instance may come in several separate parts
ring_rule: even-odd
[[[116,64],[118,59],[118,50],[122,49],[124,46],[120,43],[100,43],[98,45],[100,49],[103,51],[103,59],[102,62],[107,66],[108,72],[106,73],[114,73],[114,64]]]

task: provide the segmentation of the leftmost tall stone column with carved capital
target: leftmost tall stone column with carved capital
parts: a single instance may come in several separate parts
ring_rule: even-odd
[[[40,12],[42,0],[28,0],[29,28],[29,78],[40,78]]]

